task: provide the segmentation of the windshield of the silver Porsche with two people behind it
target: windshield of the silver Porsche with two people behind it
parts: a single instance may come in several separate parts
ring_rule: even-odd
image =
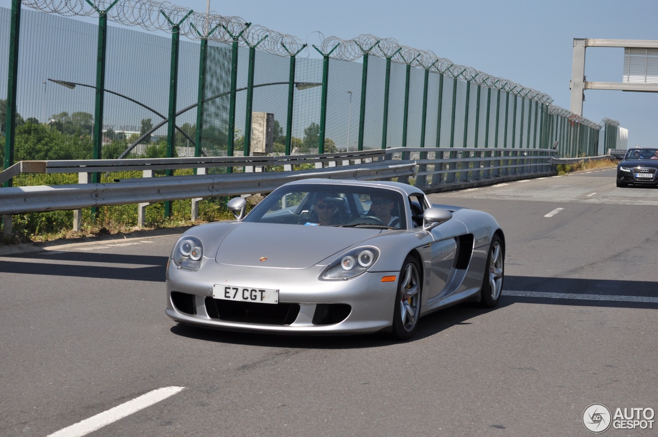
[[[268,194],[245,222],[405,229],[404,197],[395,190],[295,184]]]

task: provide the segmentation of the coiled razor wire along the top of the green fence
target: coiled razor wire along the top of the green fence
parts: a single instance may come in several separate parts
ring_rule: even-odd
[[[155,0],[122,0],[113,5],[113,0],[26,0],[24,5],[45,13],[57,13],[63,16],[94,16],[98,11],[107,13],[107,17],[114,22],[126,26],[141,26],[145,30],[171,32],[171,24],[164,14],[172,22],[180,22],[190,9],[180,7],[169,3],[168,1]],[[109,9],[108,9],[109,8]],[[246,22],[239,16],[222,16],[215,11],[211,13],[199,13],[197,11],[190,14],[188,20],[182,22],[180,34],[191,40],[205,38],[209,29],[217,27],[218,32],[213,32],[207,37],[209,40],[223,43],[234,42],[232,35],[242,33],[241,39],[237,42],[240,45],[249,47],[262,40],[259,50],[272,53],[279,56],[290,56],[290,53],[300,53],[301,57],[309,56],[309,47],[307,41],[303,41],[295,36],[282,34],[274,30],[265,28],[258,24]],[[197,32],[197,29],[204,31]],[[267,36],[266,39],[265,36]],[[538,101],[546,105],[553,102],[553,98],[532,88],[522,86],[504,78],[498,78],[476,70],[469,66],[463,66],[452,63],[449,59],[438,57],[432,51],[419,50],[406,45],[400,45],[394,38],[378,38],[370,34],[359,35],[352,39],[341,39],[336,36],[324,38],[320,43],[320,48],[324,53],[329,53],[334,47],[332,59],[342,61],[355,61],[365,53],[384,58],[391,58],[392,62],[400,64],[410,64],[418,68],[430,70],[443,74],[445,76],[457,79],[463,79],[476,85],[486,86],[494,90],[509,92],[532,101]],[[365,52],[367,47],[372,50]],[[407,60],[412,60],[408,62]],[[583,122],[586,119],[582,118]],[[589,122],[589,120],[587,120]],[[594,122],[592,127],[598,125]]]

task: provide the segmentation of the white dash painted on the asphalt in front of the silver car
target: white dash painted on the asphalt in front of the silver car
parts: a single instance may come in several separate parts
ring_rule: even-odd
[[[132,399],[132,401],[122,403],[121,405],[117,405],[116,407],[111,408],[107,411],[103,411],[103,413],[99,413],[95,416],[89,417],[89,419],[85,419],[82,422],[78,422],[76,424],[72,424],[71,426],[67,426],[66,428],[54,432],[53,434],[49,434],[49,436],[47,437],[86,436],[90,432],[94,432],[95,430],[99,430],[100,428],[103,428],[103,426],[116,422],[119,419],[123,419],[124,417],[129,416],[132,413],[137,413],[139,410],[144,409],[146,407],[150,407],[154,403],[163,401],[164,399],[168,398],[169,396],[173,396],[174,394],[180,392],[183,389],[184,387],[158,388],[157,390],[153,390],[152,392],[143,394],[138,398]]]

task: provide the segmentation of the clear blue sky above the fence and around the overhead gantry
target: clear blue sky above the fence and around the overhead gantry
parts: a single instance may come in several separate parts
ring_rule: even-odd
[[[207,0],[171,3],[197,12],[207,8]],[[11,1],[0,0],[0,7],[11,8]],[[315,44],[319,39],[314,32],[342,39],[360,34],[395,38],[402,45],[547,93],[553,105],[566,109],[573,38],[658,39],[656,0],[210,0],[210,9]],[[588,48],[586,53],[588,80],[622,81],[623,49]],[[588,90],[585,97],[586,118],[619,120],[629,130],[629,146],[658,145],[658,93]]]

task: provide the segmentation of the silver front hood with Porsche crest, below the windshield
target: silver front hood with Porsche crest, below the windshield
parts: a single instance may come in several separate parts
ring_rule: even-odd
[[[380,232],[367,228],[243,222],[226,234],[215,261],[228,266],[305,269]]]

